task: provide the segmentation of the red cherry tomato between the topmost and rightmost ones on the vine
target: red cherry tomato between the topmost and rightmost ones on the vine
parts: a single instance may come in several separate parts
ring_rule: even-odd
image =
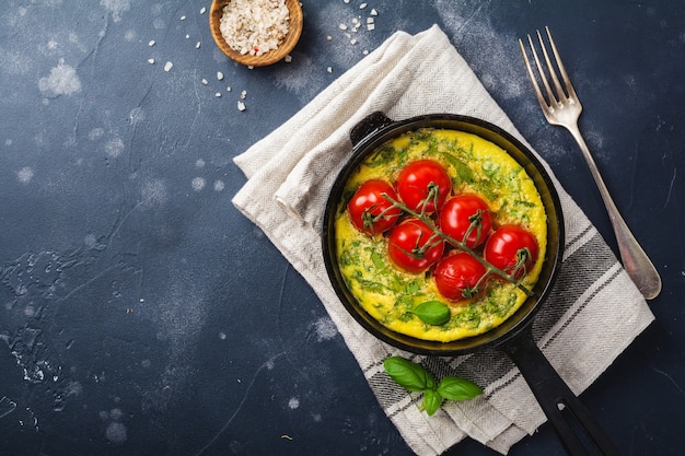
[[[439,220],[444,234],[471,248],[483,244],[492,229],[488,203],[471,194],[450,198],[440,210]]]

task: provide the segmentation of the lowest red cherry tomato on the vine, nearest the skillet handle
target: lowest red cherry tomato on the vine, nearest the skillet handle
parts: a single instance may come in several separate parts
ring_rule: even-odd
[[[444,257],[436,266],[433,277],[438,291],[450,301],[476,297],[485,289],[487,269],[465,252]]]

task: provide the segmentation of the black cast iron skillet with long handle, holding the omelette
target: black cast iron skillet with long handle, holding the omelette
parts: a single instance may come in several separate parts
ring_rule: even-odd
[[[521,308],[499,327],[479,336],[452,342],[420,340],[392,331],[381,325],[359,305],[349,292],[336,259],[334,221],[342,198],[342,189],[351,173],[370,153],[390,139],[426,127],[474,133],[506,150],[525,168],[535,183],[547,213],[547,257],[537,284],[533,289],[533,296],[529,297]],[[548,174],[535,155],[520,141],[497,126],[472,117],[446,114],[426,115],[393,121],[382,113],[373,113],[352,129],[350,137],[353,144],[352,156],[338,175],[326,204],[323,250],[328,277],[338,297],[352,317],[379,339],[415,353],[453,356],[485,347],[499,348],[513,360],[521,371],[568,454],[587,455],[589,449],[592,449],[593,453],[617,455],[618,451],[614,444],[604,434],[588,409],[559,377],[533,340],[531,331],[533,317],[549,294],[561,266],[564,250],[564,218],[559,197]],[[562,412],[561,409],[566,409],[566,411]],[[570,416],[567,417],[567,414]],[[592,445],[587,445],[588,442],[591,442]],[[593,446],[593,448],[588,446]]]

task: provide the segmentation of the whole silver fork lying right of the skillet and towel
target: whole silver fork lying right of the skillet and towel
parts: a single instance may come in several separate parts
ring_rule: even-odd
[[[525,61],[529,77],[533,82],[535,95],[539,102],[543,113],[545,114],[545,117],[547,118],[547,121],[552,125],[558,125],[566,128],[573,136],[576,142],[578,142],[578,145],[583,153],[583,157],[585,159],[585,162],[588,162],[592,177],[594,177],[594,182],[600,189],[600,195],[604,200],[604,206],[606,206],[606,211],[608,212],[608,218],[612,222],[612,226],[614,227],[616,241],[618,242],[618,252],[620,253],[624,268],[626,269],[626,272],[628,272],[630,279],[632,279],[636,283],[638,290],[640,290],[645,299],[652,300],[661,292],[661,278],[659,277],[659,272],[657,272],[654,265],[652,265],[642,247],[640,247],[632,233],[630,233],[630,230],[623,220],[623,217],[620,217],[620,213],[618,212],[618,209],[616,208],[616,204],[609,196],[606,185],[600,175],[600,171],[590,154],[590,150],[588,149],[588,145],[578,129],[578,118],[580,117],[582,106],[580,105],[580,100],[578,100],[573,85],[571,85],[571,81],[569,80],[566,69],[564,68],[564,63],[561,63],[561,59],[557,52],[557,47],[552,38],[552,33],[549,33],[549,27],[545,27],[545,30],[547,32],[549,45],[552,46],[552,51],[554,52],[556,65],[559,69],[559,74],[564,81],[564,86],[561,86],[557,72],[552,65],[543,36],[539,31],[537,31],[537,39],[539,40],[539,47],[543,51],[547,72],[552,77],[554,90],[549,85],[548,79],[545,75],[545,69],[541,63],[541,59],[537,57],[533,38],[531,38],[531,35],[527,35],[529,44],[533,52],[533,59],[535,60],[535,67],[537,68],[539,79],[545,86],[547,98],[543,95],[539,84],[537,83],[533,68],[531,67],[531,62],[525,51],[525,47],[523,46],[523,42],[519,39],[519,46],[521,47],[521,52],[523,54],[523,60]]]

